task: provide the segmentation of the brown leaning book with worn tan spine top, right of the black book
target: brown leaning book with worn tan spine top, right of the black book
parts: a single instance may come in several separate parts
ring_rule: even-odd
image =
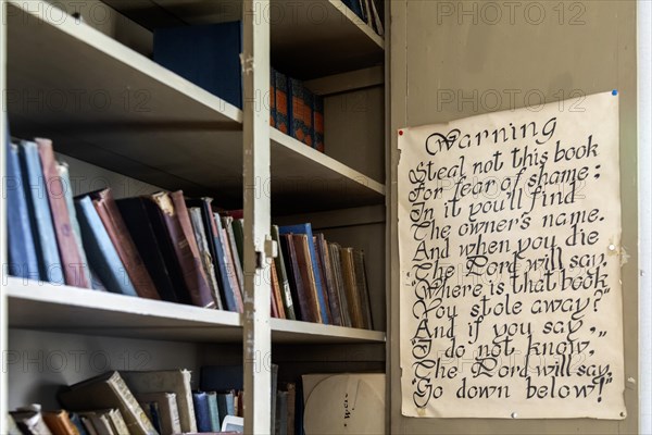
[[[159,192],[154,194],[152,199],[163,212],[184,281],[190,294],[190,300],[198,307],[215,308],[215,300],[192,233],[184,192],[180,190],[172,194]]]

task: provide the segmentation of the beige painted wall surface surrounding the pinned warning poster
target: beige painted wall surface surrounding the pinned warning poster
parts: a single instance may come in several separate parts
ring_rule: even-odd
[[[399,127],[618,89],[625,378],[638,378],[636,2],[389,0],[390,220],[396,222]],[[402,434],[637,433],[638,389],[627,383],[624,421],[408,419],[401,415],[398,246],[391,272],[388,364],[390,430]]]

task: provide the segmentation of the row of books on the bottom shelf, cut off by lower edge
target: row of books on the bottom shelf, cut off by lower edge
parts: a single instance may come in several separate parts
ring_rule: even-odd
[[[276,391],[271,396],[269,433],[294,435],[302,426],[296,384],[278,385],[278,366],[269,370]],[[11,411],[10,434],[242,433],[242,366],[203,366],[199,388],[193,385],[185,369],[110,371],[60,387],[57,398],[63,409],[42,411],[33,403]]]

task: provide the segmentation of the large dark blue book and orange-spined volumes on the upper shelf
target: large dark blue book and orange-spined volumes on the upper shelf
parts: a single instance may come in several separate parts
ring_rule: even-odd
[[[241,22],[154,30],[153,60],[242,109]],[[269,124],[324,152],[324,100],[303,83],[271,69],[269,92],[258,103],[269,108]]]

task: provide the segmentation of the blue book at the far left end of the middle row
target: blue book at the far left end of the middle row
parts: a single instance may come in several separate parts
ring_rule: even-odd
[[[39,279],[38,258],[29,225],[29,211],[23,177],[18,147],[11,142],[9,129],[7,132],[7,179],[5,195],[7,209],[7,238],[9,249],[9,274],[22,278]]]

